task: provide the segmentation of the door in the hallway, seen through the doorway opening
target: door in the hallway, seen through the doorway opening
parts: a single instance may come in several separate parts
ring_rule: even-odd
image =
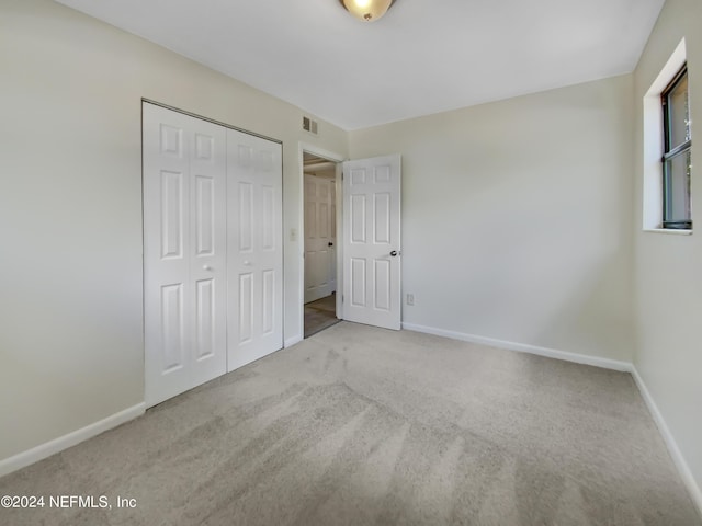
[[[305,302],[336,290],[333,182],[305,175]],[[332,272],[335,274],[332,274]]]

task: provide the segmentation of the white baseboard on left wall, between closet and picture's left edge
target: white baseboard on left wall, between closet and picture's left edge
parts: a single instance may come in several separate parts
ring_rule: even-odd
[[[129,420],[140,416],[146,411],[145,403],[138,403],[132,408],[114,413],[106,419],[94,422],[86,427],[68,433],[67,435],[59,436],[50,442],[44,443],[39,446],[22,451],[13,457],[0,460],[0,477],[3,477],[12,471],[22,469],[31,464],[38,462],[56,453],[60,453],[64,449],[80,444],[88,438],[98,436],[100,433],[104,433],[120,424],[124,424]]]

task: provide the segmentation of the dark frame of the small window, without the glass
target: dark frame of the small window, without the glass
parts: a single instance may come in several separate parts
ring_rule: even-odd
[[[683,79],[688,78],[688,64],[687,61],[682,65],[680,70],[675,75],[675,77],[670,80],[668,85],[660,93],[660,104],[663,106],[663,157],[660,159],[663,165],[663,220],[661,228],[664,229],[682,229],[682,230],[692,230],[692,217],[681,220],[679,218],[671,218],[671,209],[672,209],[672,180],[669,173],[669,162],[672,159],[687,155],[692,150],[692,137],[688,138],[686,141],[679,145],[671,145],[671,136],[672,136],[672,123],[671,123],[671,104],[670,104],[670,95],[675,92],[676,88],[680,84]],[[688,98],[689,98],[689,87],[688,87]],[[690,199],[690,192],[688,192],[688,199]]]

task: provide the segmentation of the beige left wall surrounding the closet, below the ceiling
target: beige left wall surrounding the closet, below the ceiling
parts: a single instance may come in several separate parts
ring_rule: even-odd
[[[0,459],[144,400],[141,98],[283,141],[285,231],[298,141],[347,134],[49,0],[0,5]],[[302,240],[285,242],[285,338]]]

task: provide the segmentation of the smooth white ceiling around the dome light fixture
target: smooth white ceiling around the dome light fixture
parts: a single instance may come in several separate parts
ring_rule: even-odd
[[[57,0],[356,129],[630,72],[665,0]]]

